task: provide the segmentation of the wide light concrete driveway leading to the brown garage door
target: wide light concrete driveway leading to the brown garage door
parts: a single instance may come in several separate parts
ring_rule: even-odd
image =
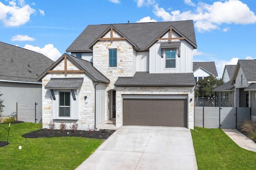
[[[76,170],[197,170],[189,129],[122,126]]]

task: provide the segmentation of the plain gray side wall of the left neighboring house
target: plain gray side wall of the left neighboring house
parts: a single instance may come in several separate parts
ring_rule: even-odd
[[[0,82],[4,102],[3,115],[16,112],[16,102],[42,104],[42,84]]]

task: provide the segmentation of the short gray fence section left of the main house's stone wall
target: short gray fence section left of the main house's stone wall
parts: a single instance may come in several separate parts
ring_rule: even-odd
[[[18,102],[17,121],[42,123],[42,104]]]

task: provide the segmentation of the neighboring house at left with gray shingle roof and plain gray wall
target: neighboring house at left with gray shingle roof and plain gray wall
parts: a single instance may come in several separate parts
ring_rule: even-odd
[[[0,42],[0,63],[3,115],[16,112],[17,102],[42,104],[42,82],[36,78],[54,61],[40,53]]]

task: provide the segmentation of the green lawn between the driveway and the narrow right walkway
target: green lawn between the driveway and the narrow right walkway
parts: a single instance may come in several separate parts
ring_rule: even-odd
[[[221,129],[191,130],[198,170],[256,170],[256,152],[240,148]]]

